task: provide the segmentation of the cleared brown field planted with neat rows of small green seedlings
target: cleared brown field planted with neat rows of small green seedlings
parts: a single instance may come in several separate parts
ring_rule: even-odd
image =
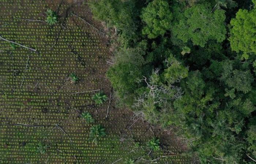
[[[94,104],[91,96],[96,91],[91,90],[100,89],[108,97],[111,93],[105,78],[110,58],[106,39],[75,16],[83,17],[88,9],[65,1],[53,4],[0,0],[0,36],[37,50],[12,48],[0,40],[0,163],[123,164],[128,159],[187,163],[189,159],[180,155],[182,149],[174,143],[166,145],[169,151],[145,156],[145,142],[154,136],[149,125],[136,117],[131,120],[132,113],[115,109],[113,101],[107,118],[109,101]],[[44,22],[48,8],[60,16],[53,27]],[[71,82],[71,73],[78,82]],[[106,137],[97,145],[88,140],[93,124],[80,117],[83,111],[106,128]],[[135,148],[134,141],[141,146]],[[37,152],[39,143],[49,146],[45,154]]]

